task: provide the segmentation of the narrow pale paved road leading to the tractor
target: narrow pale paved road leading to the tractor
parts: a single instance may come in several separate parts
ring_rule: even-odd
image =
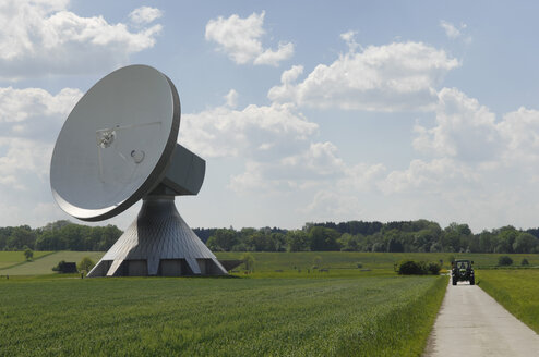
[[[479,286],[450,284],[423,356],[539,356],[539,335]]]

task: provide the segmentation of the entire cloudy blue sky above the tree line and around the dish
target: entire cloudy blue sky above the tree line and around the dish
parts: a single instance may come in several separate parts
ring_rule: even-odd
[[[76,100],[155,66],[207,162],[191,226],[539,226],[532,2],[3,1],[0,225],[68,219],[48,170]],[[127,226],[140,205],[110,221]]]

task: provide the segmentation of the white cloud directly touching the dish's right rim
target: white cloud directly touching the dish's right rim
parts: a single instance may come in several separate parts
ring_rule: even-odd
[[[296,143],[318,131],[316,124],[288,104],[250,104],[242,110],[216,107],[183,114],[181,126],[180,141],[209,158],[288,156],[296,152]]]

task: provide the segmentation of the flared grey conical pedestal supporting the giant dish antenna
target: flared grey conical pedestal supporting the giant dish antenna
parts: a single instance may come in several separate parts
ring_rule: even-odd
[[[180,217],[173,196],[147,196],[136,220],[87,276],[226,274],[215,255]]]

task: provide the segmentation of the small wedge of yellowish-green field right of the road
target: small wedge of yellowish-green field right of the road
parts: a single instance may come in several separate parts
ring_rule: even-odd
[[[539,333],[539,270],[481,270],[479,286]]]

